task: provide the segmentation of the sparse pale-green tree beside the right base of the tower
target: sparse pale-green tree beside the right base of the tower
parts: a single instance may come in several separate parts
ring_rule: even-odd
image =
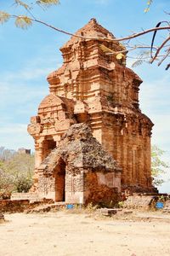
[[[161,156],[164,153],[165,151],[161,150],[156,145],[153,145],[151,148],[151,174],[154,178],[153,183],[156,186],[159,186],[165,182],[161,178],[161,174],[166,173],[167,168],[169,168],[167,163],[161,160]]]

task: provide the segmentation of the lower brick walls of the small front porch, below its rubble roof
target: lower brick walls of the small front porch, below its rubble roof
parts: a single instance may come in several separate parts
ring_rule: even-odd
[[[90,202],[115,203],[121,191],[121,173],[93,172],[80,168],[78,172],[65,173],[65,200],[59,197],[59,177],[40,176],[38,195],[40,198],[65,201],[66,203]],[[56,197],[57,195],[57,197]]]

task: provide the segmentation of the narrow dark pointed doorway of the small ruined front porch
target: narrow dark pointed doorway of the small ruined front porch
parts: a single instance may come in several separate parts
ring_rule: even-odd
[[[54,169],[55,177],[55,201],[65,201],[65,161],[59,159]]]

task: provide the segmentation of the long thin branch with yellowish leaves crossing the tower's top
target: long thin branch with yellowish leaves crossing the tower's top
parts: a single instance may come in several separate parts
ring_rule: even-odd
[[[16,1],[20,1],[20,0],[16,0]],[[47,0],[48,1],[48,0]],[[50,1],[53,1],[53,0],[50,0]],[[28,10],[28,9],[27,9]],[[30,11],[30,10],[29,10]],[[31,13],[30,13],[31,17],[29,16],[24,16],[24,15],[9,15],[8,13],[5,13],[5,12],[0,12],[0,23],[4,23],[6,21],[8,21],[10,18],[14,18],[15,19],[15,25],[18,26],[18,27],[21,27],[23,29],[26,29],[28,28],[29,26],[32,25],[33,22],[36,22],[36,23],[39,23],[39,24],[42,24],[43,26],[48,26],[49,28],[53,29],[54,31],[57,31],[57,32],[62,32],[62,33],[65,33],[66,35],[69,35],[69,36],[72,36],[72,37],[75,37],[75,38],[81,38],[82,40],[98,40],[100,42],[126,42],[126,45],[127,45],[127,49],[122,49],[120,51],[114,51],[113,49],[109,49],[107,48],[104,44],[101,45],[101,48],[102,50],[105,52],[106,55],[116,55],[116,58],[126,58],[126,54],[128,51],[133,51],[135,49],[150,49],[151,51],[151,57],[152,57],[152,51],[156,51],[155,55],[151,58],[150,60],[150,63],[153,63],[153,61],[155,61],[157,59],[161,51],[161,49],[163,48],[167,48],[167,42],[170,40],[170,37],[168,36],[168,38],[161,44],[160,47],[158,46],[154,46],[153,43],[154,43],[154,40],[155,40],[155,37],[156,37],[156,32],[158,31],[165,31],[165,32],[169,32],[170,31],[170,24],[168,21],[161,21],[159,22],[156,27],[153,27],[153,28],[150,28],[148,30],[143,30],[142,32],[138,32],[138,33],[133,33],[127,37],[124,37],[124,38],[106,38],[106,37],[90,37],[90,36],[83,36],[82,34],[77,34],[77,33],[71,33],[71,32],[67,32],[65,30],[62,30],[62,29],[59,29],[58,27],[56,26],[52,26],[50,24],[48,24],[47,22],[45,21],[42,21],[42,20],[37,20],[37,18],[35,18]],[[167,26],[162,26],[162,24],[165,24]],[[148,46],[148,45],[134,45],[134,46],[129,46],[128,42],[133,39],[133,38],[139,38],[147,33],[150,33],[150,32],[154,32],[154,35],[153,35],[153,38],[152,38],[152,41],[151,41],[151,46]],[[125,54],[125,55],[123,55]],[[165,58],[162,58],[161,59],[161,62],[164,61],[168,54],[166,52],[166,50],[164,51],[164,55],[166,56]],[[139,59],[141,58],[141,56],[139,57]],[[137,58],[138,59],[138,58]],[[160,64],[161,65],[161,64]]]

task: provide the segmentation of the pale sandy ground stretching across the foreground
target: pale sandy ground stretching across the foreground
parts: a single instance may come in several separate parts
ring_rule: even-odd
[[[127,217],[48,212],[6,214],[0,256],[170,255],[170,215]]]

